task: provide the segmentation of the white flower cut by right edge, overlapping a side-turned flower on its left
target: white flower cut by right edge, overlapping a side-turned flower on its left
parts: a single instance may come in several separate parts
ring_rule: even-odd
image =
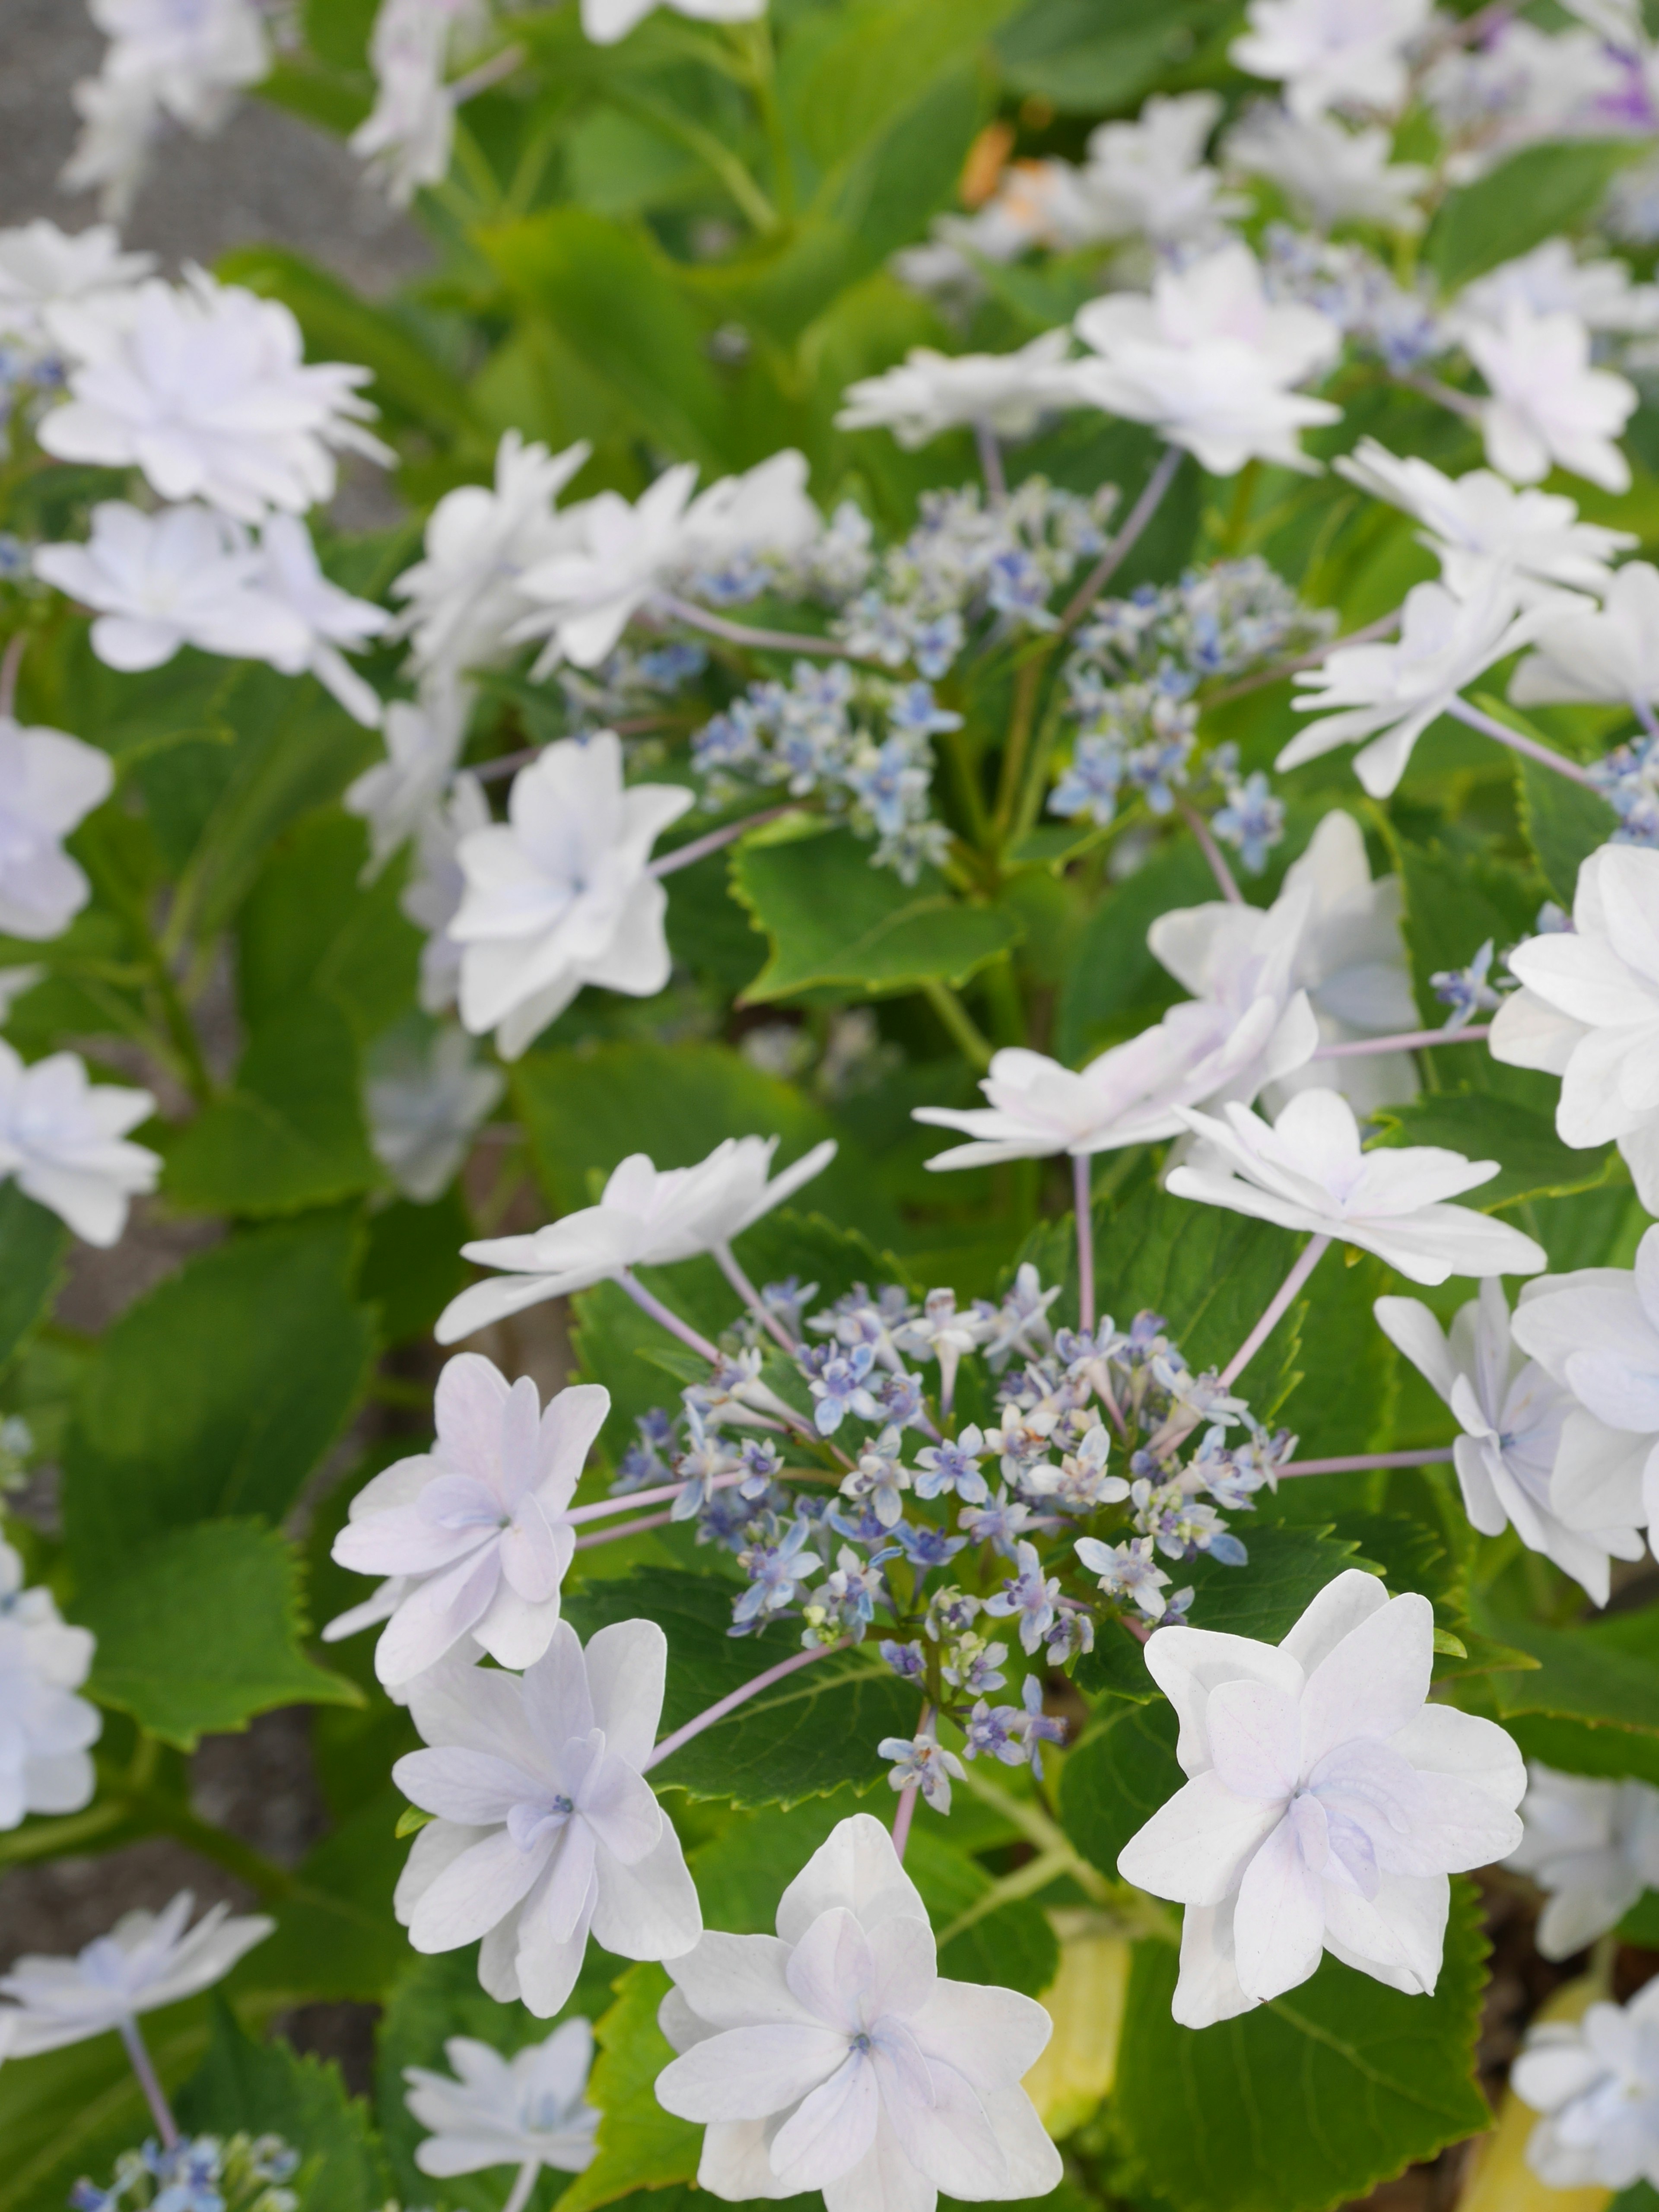
[[[1515,1343],[1564,1389],[1551,1504],[1568,1528],[1659,1524],[1659,1230],[1635,1267],[1579,1267],[1524,1283]],[[1652,1544],[1652,1533],[1648,1537]]]

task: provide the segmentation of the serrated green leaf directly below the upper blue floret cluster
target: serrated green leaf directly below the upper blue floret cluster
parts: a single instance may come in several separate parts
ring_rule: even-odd
[[[995,907],[971,907],[933,869],[905,885],[872,867],[852,830],[757,832],[732,858],[732,889],[765,931],[772,958],[745,1000],[792,998],[825,984],[880,995],[922,982],[960,989],[1020,940]]]

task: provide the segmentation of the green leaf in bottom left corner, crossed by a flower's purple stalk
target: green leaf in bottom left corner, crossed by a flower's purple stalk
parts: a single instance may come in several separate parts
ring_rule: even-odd
[[[144,2042],[173,2095],[208,2048],[208,1997],[144,2015]],[[150,2108],[111,2031],[0,2066],[0,2212],[64,2212],[82,2179],[108,2188],[115,2159],[155,2135]]]

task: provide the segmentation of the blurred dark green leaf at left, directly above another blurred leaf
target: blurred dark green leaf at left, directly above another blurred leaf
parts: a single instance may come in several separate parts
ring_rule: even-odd
[[[420,933],[398,909],[400,869],[365,885],[363,860],[363,823],[347,814],[314,814],[276,845],[237,916],[237,1000],[250,1026],[314,993],[365,1044],[409,1013]]]

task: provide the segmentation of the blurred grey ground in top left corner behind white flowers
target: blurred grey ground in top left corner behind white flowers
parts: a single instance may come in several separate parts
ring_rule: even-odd
[[[69,91],[102,46],[82,0],[0,0],[0,223],[97,219],[93,195],[62,192],[58,173],[77,128]],[[259,100],[217,139],[179,133],[159,148],[126,237],[168,268],[252,241],[294,246],[365,292],[427,263],[416,226],[363,184],[338,139]]]

